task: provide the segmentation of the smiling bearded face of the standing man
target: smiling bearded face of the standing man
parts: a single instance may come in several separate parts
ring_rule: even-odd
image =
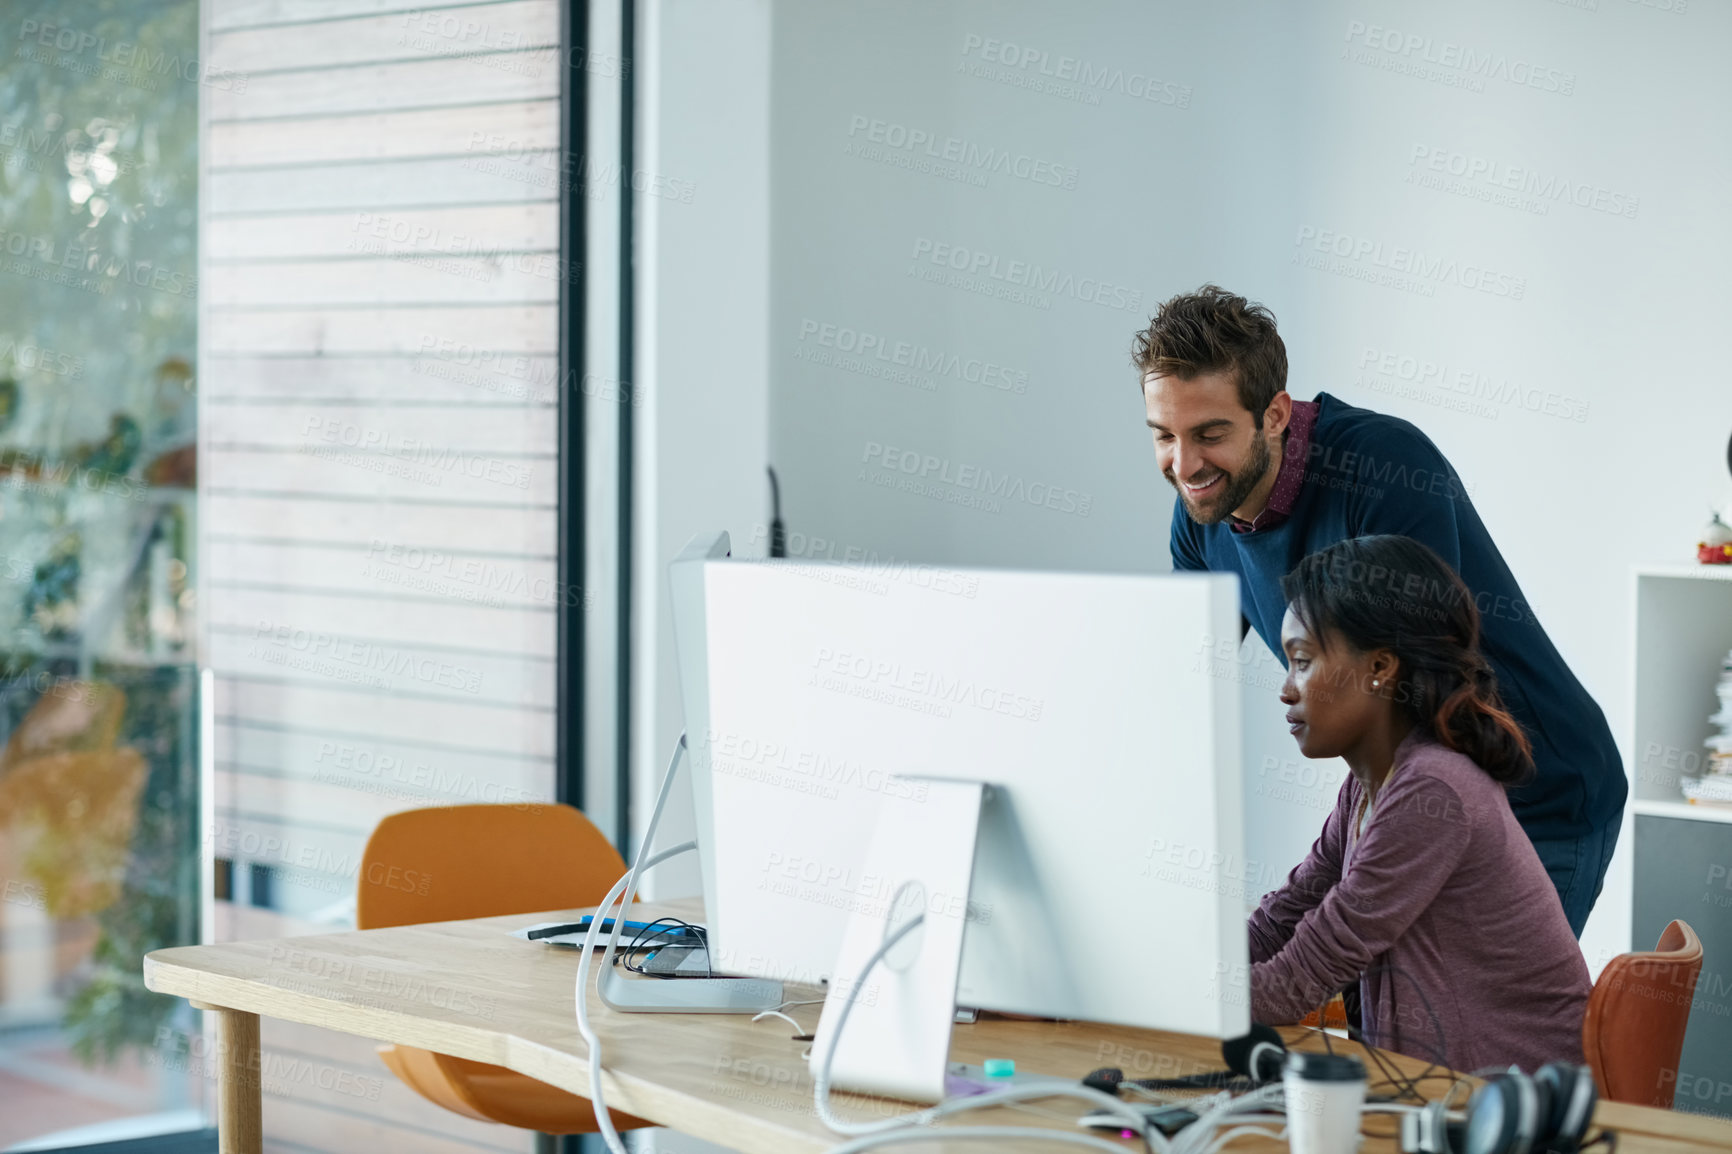
[[[1287,393],[1276,393],[1275,404],[1264,414],[1259,430],[1251,412],[1238,400],[1233,371],[1199,373],[1193,378],[1143,376],[1143,409],[1155,437],[1155,457],[1160,473],[1178,490],[1185,511],[1199,525],[1214,525],[1238,513],[1245,520],[1261,513],[1268,489],[1273,489],[1273,464],[1287,428],[1290,402]],[[1273,418],[1273,419],[1271,419]],[[1259,508],[1247,501],[1264,487]]]

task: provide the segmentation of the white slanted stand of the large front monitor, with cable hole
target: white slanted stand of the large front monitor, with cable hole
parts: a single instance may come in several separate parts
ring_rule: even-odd
[[[963,925],[973,882],[975,837],[987,785],[916,778],[927,788],[885,794],[866,849],[871,896],[854,908],[812,1041],[812,1062],[835,1048],[830,1085],[911,1102],[944,1099],[956,1017]],[[869,974],[873,953],[916,917]],[[842,1003],[852,998],[837,1034]]]

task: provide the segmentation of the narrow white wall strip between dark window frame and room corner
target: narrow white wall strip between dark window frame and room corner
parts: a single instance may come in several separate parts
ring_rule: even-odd
[[[771,253],[767,0],[639,10],[643,184],[675,194],[637,198],[636,837],[682,724],[667,565],[715,528],[734,556],[766,553]],[[691,837],[686,780],[658,846]],[[698,892],[696,861],[660,866],[646,889]]]

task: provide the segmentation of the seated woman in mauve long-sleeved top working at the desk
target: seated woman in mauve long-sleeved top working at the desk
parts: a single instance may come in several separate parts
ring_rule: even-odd
[[[1309,856],[1251,915],[1251,1015],[1360,984],[1365,1040],[1460,1071],[1581,1062],[1588,969],[1505,788],[1533,769],[1462,579],[1412,537],[1282,579],[1282,702],[1351,775]]]

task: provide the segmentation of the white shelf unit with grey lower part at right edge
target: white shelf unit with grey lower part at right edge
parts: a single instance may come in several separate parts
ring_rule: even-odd
[[[1632,586],[1632,944],[1652,950],[1673,918],[1701,936],[1673,1105],[1716,1112],[1723,1104],[1703,1088],[1732,1083],[1732,807],[1692,806],[1678,780],[1708,757],[1720,662],[1732,650],[1732,565],[1645,565]]]

